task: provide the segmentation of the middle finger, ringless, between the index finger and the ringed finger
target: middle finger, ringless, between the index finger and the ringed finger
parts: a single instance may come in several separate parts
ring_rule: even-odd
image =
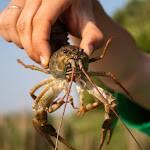
[[[40,63],[39,56],[34,52],[32,46],[32,20],[41,5],[41,0],[26,0],[22,13],[17,22],[17,31],[21,43],[26,50],[27,55]]]

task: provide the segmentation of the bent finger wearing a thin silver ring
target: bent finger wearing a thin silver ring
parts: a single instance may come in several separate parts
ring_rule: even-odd
[[[18,47],[22,48],[18,32],[16,30],[16,23],[21,13],[24,1],[12,0],[6,8],[3,16],[3,31],[7,33],[10,41],[14,42]],[[18,6],[18,7],[17,7]]]

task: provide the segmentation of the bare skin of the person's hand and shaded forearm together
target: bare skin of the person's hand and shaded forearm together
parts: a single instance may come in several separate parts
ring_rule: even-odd
[[[105,57],[92,63],[90,70],[113,73],[134,102],[150,109],[150,56],[137,49],[133,37],[107,16],[97,0],[12,0],[0,13],[0,34],[6,41],[24,48],[31,59],[47,68],[51,26],[59,16],[74,44],[89,56],[93,52],[92,57],[99,56],[103,44],[116,36]],[[111,79],[100,79],[111,89],[123,93]]]

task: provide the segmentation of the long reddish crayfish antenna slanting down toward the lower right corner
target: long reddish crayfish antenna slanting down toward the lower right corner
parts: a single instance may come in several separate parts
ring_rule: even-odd
[[[138,147],[142,150],[140,144],[138,143],[138,141],[136,140],[136,138],[134,137],[134,135],[131,133],[131,131],[129,130],[129,128],[126,126],[126,124],[123,122],[123,120],[119,117],[119,115],[116,113],[116,111],[111,107],[111,105],[108,103],[108,101],[104,98],[104,96],[100,93],[100,91],[98,90],[98,88],[96,87],[96,85],[94,84],[94,82],[90,79],[90,77],[88,76],[88,74],[86,73],[86,71],[84,70],[84,68],[81,68],[82,72],[85,74],[85,76],[87,77],[87,79],[90,81],[90,83],[93,85],[93,87],[97,90],[97,92],[101,95],[101,97],[103,98],[103,100],[107,103],[107,105],[109,106],[109,108],[114,112],[114,114],[118,117],[118,119],[122,122],[122,124],[125,126],[125,128],[127,129],[127,131],[130,133],[130,135],[132,136],[132,138],[134,139],[134,141],[136,142],[136,144],[138,145]],[[109,143],[109,141],[108,141]],[[103,144],[103,143],[102,143]]]

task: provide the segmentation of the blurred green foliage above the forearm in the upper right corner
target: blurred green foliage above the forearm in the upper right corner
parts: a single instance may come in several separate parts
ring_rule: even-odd
[[[114,19],[135,38],[138,48],[150,52],[150,1],[130,0],[124,9],[116,11]]]

